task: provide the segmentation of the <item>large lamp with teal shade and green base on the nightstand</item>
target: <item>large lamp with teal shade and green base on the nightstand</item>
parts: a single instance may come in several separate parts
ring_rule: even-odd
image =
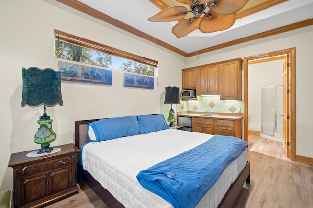
[[[61,72],[53,69],[39,69],[30,67],[22,68],[23,92],[21,106],[37,107],[44,105],[44,114],[39,117],[38,131],[34,136],[34,142],[41,145],[37,154],[50,153],[53,148],[50,143],[56,139],[56,133],[52,129],[52,119],[47,115],[46,106],[52,107],[59,104],[63,106],[61,95]]]

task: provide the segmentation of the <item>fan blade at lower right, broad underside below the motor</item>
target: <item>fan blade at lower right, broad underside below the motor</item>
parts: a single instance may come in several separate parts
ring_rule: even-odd
[[[212,14],[212,17],[207,19],[204,15],[199,24],[199,30],[202,33],[211,33],[221,30],[226,30],[233,26],[236,20],[236,14],[218,15],[211,10],[207,14]]]

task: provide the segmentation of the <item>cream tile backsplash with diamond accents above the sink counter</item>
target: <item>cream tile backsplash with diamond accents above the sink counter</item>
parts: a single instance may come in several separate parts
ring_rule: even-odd
[[[224,101],[219,96],[202,97],[201,101],[181,101],[177,105],[179,111],[216,112],[216,113],[243,113],[244,101]]]

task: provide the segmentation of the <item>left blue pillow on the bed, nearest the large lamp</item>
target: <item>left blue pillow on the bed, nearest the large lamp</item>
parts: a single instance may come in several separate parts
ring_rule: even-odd
[[[97,142],[123,136],[134,136],[140,132],[136,116],[108,118],[95,121],[87,125],[87,131],[89,126],[92,127]]]

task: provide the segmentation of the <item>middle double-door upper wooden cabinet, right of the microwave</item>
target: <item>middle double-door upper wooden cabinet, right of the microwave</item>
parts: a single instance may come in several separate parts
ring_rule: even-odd
[[[197,69],[197,95],[219,95],[218,65]]]

